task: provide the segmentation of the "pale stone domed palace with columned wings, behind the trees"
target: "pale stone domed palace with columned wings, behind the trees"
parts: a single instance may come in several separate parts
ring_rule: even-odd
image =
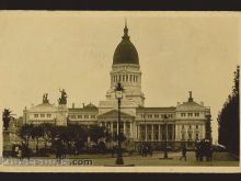
[[[146,108],[145,94],[141,91],[141,71],[139,56],[130,42],[127,25],[117,45],[112,70],[111,84],[106,91],[106,100],[99,106],[92,103],[82,108],[58,106],[47,100],[23,112],[23,121],[27,124],[53,123],[56,125],[83,124],[105,126],[112,134],[117,134],[117,100],[115,88],[118,82],[124,87],[120,106],[120,131],[135,143],[162,144],[165,139],[170,145],[190,143],[203,138],[210,139],[210,109],[197,103],[188,94],[186,102],[170,108]],[[165,129],[167,127],[167,129]]]

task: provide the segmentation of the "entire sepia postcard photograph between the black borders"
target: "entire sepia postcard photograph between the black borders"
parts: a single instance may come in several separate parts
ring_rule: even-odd
[[[0,11],[0,170],[241,171],[240,34],[237,12]]]

